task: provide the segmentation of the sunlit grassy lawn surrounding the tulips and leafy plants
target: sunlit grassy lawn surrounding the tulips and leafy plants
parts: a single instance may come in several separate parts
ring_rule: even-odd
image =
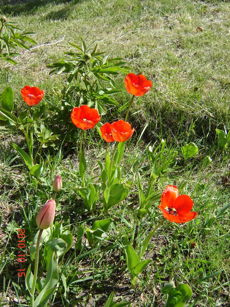
[[[13,142],[29,153],[23,134],[1,123],[0,305],[30,304],[25,277],[18,277],[17,273],[20,268],[27,270],[29,264],[34,271],[30,247],[38,231],[36,215],[52,197],[52,181],[60,174],[63,187],[56,195],[55,221],[63,221],[63,229],[73,235],[73,243],[59,257],[59,279],[49,306],[104,306],[113,291],[114,300],[119,302],[161,307],[166,301],[161,290],[172,280],[193,290],[186,306],[230,306],[230,150],[229,144],[220,144],[216,132],[220,129],[225,134],[230,130],[229,2],[0,0],[0,15],[26,32],[35,33],[36,45],[28,45],[37,46],[26,52],[19,49],[17,65],[0,58],[0,94],[8,86],[12,88],[13,113],[19,117],[27,107],[21,88],[30,85],[44,89],[44,98],[32,107],[32,114],[42,106],[41,119],[47,129],[59,135],[53,146],[43,149],[42,155],[40,142],[34,137],[37,161],[44,163],[41,176],[34,180],[12,146]],[[122,58],[124,66],[129,67],[112,76],[114,88],[119,91],[111,97],[117,105],[105,103],[107,110],[100,112],[103,124],[125,117],[132,98],[125,89],[125,69],[135,74],[144,72],[152,81],[148,93],[134,98],[128,115],[135,131],[125,143],[120,165],[128,196],[108,212],[102,210],[103,192],[94,212],[88,212],[82,201],[81,133],[71,123],[72,107],[63,108],[66,99],[78,106],[79,93],[71,91],[64,97],[67,74],[49,75],[52,68],[47,66],[67,60],[64,52],[76,51],[69,42],[81,45],[81,40],[86,45],[98,40],[98,51],[109,58]],[[102,80],[102,84],[106,82]],[[83,146],[87,178],[100,185],[98,160],[105,163],[106,144],[98,130],[86,130]],[[196,144],[198,153],[185,157],[182,146],[190,142]],[[111,154],[114,145],[109,146]],[[166,162],[164,171],[159,171]],[[138,230],[138,251],[144,238],[162,220],[158,197],[136,227],[140,185],[145,193],[152,174],[155,195],[167,185],[177,186],[180,194],[193,200],[192,211],[197,212],[197,217],[180,224],[166,220],[159,226],[143,255],[151,262],[133,290],[122,236],[133,243]],[[82,227],[91,228],[95,220],[107,218],[112,222],[105,238],[90,247],[84,234],[79,251]],[[17,261],[18,229],[25,230],[26,235],[25,248],[20,250],[25,253],[23,263]],[[44,262],[40,262],[39,273],[45,277],[42,266]]]

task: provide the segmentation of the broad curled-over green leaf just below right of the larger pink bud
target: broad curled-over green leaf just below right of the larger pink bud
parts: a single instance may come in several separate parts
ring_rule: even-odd
[[[51,261],[53,252],[55,252],[56,257],[64,254],[67,248],[67,243],[61,238],[49,239],[44,245],[44,260],[46,262],[46,267],[48,268]]]

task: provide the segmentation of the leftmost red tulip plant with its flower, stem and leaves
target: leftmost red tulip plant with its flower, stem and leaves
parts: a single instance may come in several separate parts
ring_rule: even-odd
[[[40,90],[38,87],[30,87],[26,85],[21,89],[21,95],[23,100],[27,103],[28,107],[25,111],[21,113],[21,115],[17,118],[13,114],[14,110],[14,98],[13,91],[11,87],[6,87],[6,89],[2,92],[1,95],[1,108],[0,108],[0,120],[1,126],[14,129],[17,128],[21,130],[21,132],[25,136],[27,148],[29,154],[20,148],[17,144],[12,143],[13,148],[17,151],[18,155],[21,157],[22,161],[29,169],[29,174],[31,175],[31,179],[36,186],[38,181],[37,178],[40,177],[41,173],[44,170],[44,162],[42,161],[42,148],[47,147],[48,145],[52,146],[53,142],[55,142],[59,135],[52,134],[51,130],[48,129],[47,126],[43,124],[42,119],[40,119],[41,115],[44,112],[44,107],[36,109],[33,112],[33,116],[31,117],[31,108],[36,106],[41,102],[44,91]],[[40,124],[40,131],[37,130]],[[36,135],[38,140],[40,141],[40,146],[34,155],[34,136]],[[40,161],[36,163],[37,154],[40,152]]]

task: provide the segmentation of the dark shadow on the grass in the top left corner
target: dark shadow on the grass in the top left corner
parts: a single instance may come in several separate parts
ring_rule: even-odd
[[[50,5],[52,7],[55,7],[59,4],[65,5],[67,8],[63,7],[58,12],[54,12],[54,15],[49,14],[48,18],[50,19],[63,19],[63,15],[67,14],[70,8],[72,8],[71,5],[77,4],[78,2],[81,2],[82,0],[0,0],[1,8],[0,13],[4,15],[10,15],[17,16],[17,15],[33,15],[36,13],[37,10],[39,10],[42,7],[45,7],[47,5]]]

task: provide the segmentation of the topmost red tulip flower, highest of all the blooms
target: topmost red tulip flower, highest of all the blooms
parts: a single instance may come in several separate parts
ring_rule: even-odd
[[[152,82],[143,75],[128,74],[125,77],[125,87],[127,91],[135,96],[143,96],[152,86]]]

